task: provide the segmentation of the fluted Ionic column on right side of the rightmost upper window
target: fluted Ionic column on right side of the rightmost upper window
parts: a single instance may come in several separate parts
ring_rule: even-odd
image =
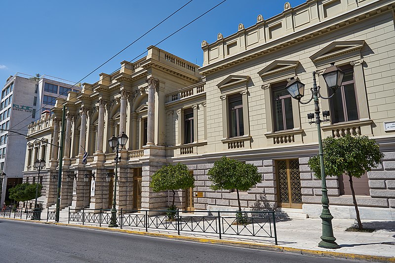
[[[367,106],[365,78],[363,76],[362,63],[363,63],[363,59],[350,62],[351,66],[354,67],[356,97],[357,97],[357,103],[359,105],[359,119],[367,120],[370,119],[370,117],[369,117],[369,109]]]

